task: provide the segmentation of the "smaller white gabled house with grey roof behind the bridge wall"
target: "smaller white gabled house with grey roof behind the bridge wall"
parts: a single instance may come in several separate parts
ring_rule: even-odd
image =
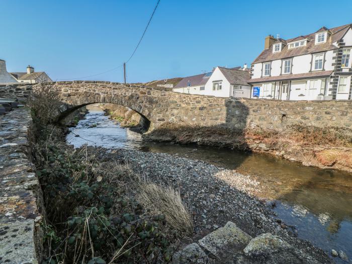
[[[216,67],[213,71],[183,78],[173,92],[216,97],[250,98],[250,74],[246,67]]]

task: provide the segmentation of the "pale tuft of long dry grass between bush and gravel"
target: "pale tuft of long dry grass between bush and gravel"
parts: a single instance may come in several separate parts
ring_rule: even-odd
[[[136,200],[148,208],[152,214],[165,215],[166,224],[180,234],[193,233],[193,221],[187,205],[182,201],[180,192],[171,186],[145,182],[139,185]]]

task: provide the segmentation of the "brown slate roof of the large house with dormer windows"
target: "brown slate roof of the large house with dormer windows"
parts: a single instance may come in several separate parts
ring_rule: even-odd
[[[314,44],[315,34],[317,32],[322,32],[322,30],[326,29],[325,27],[319,29],[317,32],[314,32],[312,34],[299,36],[299,37],[286,40],[286,43],[290,43],[290,42],[294,42],[302,39],[307,39],[308,41],[306,46],[288,49],[288,46],[285,45],[282,47],[281,52],[273,53],[273,45],[271,45],[268,49],[263,50],[259,54],[259,56],[256,57],[256,59],[252,62],[252,64],[336,49],[337,47],[332,45],[332,43],[340,40],[347,32],[347,30],[350,29],[351,27],[352,27],[352,24],[347,24],[347,25],[329,29],[328,32],[330,31],[331,35],[328,36],[327,41],[325,43],[322,43],[319,45]],[[282,40],[282,42],[286,44],[284,40]]]

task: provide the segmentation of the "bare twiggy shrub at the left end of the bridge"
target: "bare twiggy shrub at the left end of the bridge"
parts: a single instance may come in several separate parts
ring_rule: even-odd
[[[52,82],[41,81],[33,86],[27,106],[42,124],[49,124],[55,120],[60,102],[60,94]]]

